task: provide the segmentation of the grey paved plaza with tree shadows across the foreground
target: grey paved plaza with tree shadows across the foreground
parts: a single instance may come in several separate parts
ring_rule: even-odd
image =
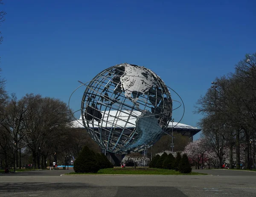
[[[0,197],[255,197],[256,173],[193,170],[212,175],[73,175],[70,170],[0,174]]]

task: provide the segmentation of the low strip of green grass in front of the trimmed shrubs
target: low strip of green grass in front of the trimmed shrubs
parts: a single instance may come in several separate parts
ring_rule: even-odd
[[[137,167],[134,168],[107,168],[107,169],[100,169],[97,173],[76,173],[76,172],[70,172],[69,174],[154,174],[154,175],[205,175],[204,173],[197,173],[197,172],[191,172],[190,174],[182,174],[175,170],[168,170],[168,169],[158,169],[158,168],[140,168]]]

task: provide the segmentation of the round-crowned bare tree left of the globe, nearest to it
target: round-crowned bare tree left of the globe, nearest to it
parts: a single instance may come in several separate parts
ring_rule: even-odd
[[[33,95],[27,95],[28,98]],[[38,151],[42,157],[42,167],[46,158],[61,153],[67,149],[67,127],[73,120],[67,104],[56,98],[38,98],[34,105],[30,105],[31,118],[24,121],[26,125],[25,141],[32,151],[34,166],[38,165]]]

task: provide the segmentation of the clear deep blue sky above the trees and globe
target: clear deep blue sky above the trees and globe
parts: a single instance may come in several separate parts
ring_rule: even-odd
[[[0,68],[6,90],[18,98],[39,93],[68,102],[78,80],[128,62],[176,90],[185,103],[181,123],[196,126],[194,105],[211,81],[256,52],[255,0],[3,2]],[[81,96],[72,98],[74,110]]]

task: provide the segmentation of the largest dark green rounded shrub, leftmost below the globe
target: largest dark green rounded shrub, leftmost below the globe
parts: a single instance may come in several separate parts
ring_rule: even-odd
[[[99,171],[100,165],[95,153],[90,150],[87,146],[79,153],[78,157],[74,161],[74,171],[76,173],[93,172]]]

